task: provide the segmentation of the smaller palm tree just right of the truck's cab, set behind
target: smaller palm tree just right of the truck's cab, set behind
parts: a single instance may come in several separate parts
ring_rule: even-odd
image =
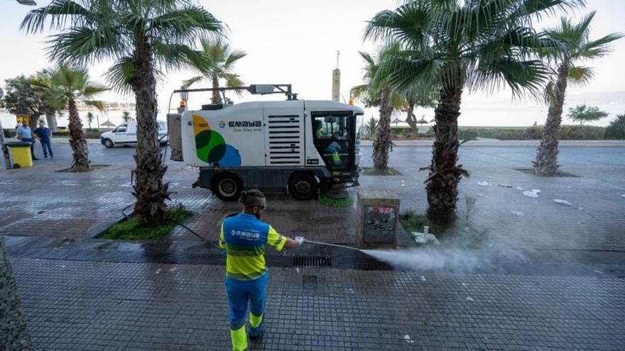
[[[392,43],[381,48],[376,57],[368,52],[359,52],[364,60],[364,84],[357,85],[351,90],[352,97],[362,101],[366,107],[379,108],[380,119],[376,125],[374,151],[371,157],[375,169],[388,169],[388,152],[393,150],[391,141],[391,115],[393,109],[402,108],[404,101],[396,89],[393,89],[384,77],[377,72],[386,57],[400,50],[398,43]]]

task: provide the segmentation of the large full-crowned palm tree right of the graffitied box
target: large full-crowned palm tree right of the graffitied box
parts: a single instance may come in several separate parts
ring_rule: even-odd
[[[381,77],[397,89],[439,91],[433,157],[425,168],[431,225],[452,227],[457,186],[462,175],[468,176],[457,165],[462,92],[507,85],[514,95],[538,94],[548,69],[533,55],[550,42],[533,30],[532,18],[579,2],[418,0],[381,11],[369,22],[365,38],[403,46],[380,67]]]

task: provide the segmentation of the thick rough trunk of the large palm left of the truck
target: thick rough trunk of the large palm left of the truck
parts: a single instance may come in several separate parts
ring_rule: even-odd
[[[138,223],[156,226],[165,219],[165,199],[169,199],[169,192],[168,184],[163,184],[167,167],[161,162],[161,145],[158,142],[156,79],[150,50],[147,38],[142,36],[137,39],[133,55],[134,77],[137,78],[132,85],[137,118],[133,195]]]

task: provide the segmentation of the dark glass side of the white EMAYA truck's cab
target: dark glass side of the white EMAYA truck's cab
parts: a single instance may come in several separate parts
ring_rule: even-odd
[[[312,112],[312,138],[326,165],[347,169],[352,147],[352,112]]]

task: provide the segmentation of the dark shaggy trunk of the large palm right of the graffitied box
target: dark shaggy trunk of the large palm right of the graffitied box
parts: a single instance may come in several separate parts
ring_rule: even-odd
[[[436,120],[432,165],[428,177],[428,221],[445,230],[454,225],[460,176],[466,174],[456,165],[458,160],[458,116],[462,89],[443,88],[438,106],[434,109]]]

